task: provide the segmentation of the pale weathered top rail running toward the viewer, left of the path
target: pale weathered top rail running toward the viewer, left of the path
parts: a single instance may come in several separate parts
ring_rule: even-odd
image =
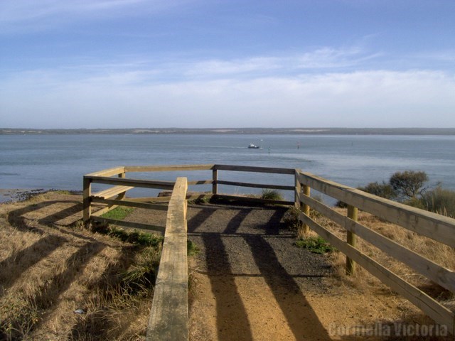
[[[146,341],[188,340],[186,178],[177,178],[156,276]]]

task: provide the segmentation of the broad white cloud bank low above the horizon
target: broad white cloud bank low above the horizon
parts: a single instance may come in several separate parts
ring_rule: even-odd
[[[1,126],[455,126],[455,77],[444,72],[149,77],[142,72],[84,78],[18,74],[0,83]]]

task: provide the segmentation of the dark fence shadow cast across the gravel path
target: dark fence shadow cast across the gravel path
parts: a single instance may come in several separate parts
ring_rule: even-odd
[[[191,238],[202,242],[205,254],[205,271],[210,280],[210,286],[216,300],[216,328],[218,340],[253,340],[252,326],[242,295],[239,292],[236,278],[262,277],[277,301],[282,315],[286,318],[292,336],[296,340],[306,340],[319,335],[321,340],[330,340],[330,337],[318,316],[306,301],[304,293],[296,283],[294,277],[320,278],[326,274],[289,274],[282,266],[274,249],[267,239],[284,237],[291,238],[290,234],[282,235],[282,218],[287,211],[286,207],[269,208],[272,214],[264,222],[251,224],[247,221],[257,214],[255,207],[220,208],[220,211],[230,210],[230,220],[221,226],[222,218],[218,215],[217,207],[203,207],[193,212],[188,220],[188,233]],[[265,211],[264,211],[265,212]],[[223,212],[223,215],[226,215]],[[266,215],[267,216],[267,215]],[[216,222],[216,223],[215,223]],[[280,230],[281,228],[281,230]],[[218,230],[217,230],[218,229]],[[237,274],[232,268],[232,250],[227,247],[228,239],[242,239],[247,245],[247,254],[250,262],[255,264],[258,274]],[[252,259],[251,259],[252,254]],[[305,270],[303,270],[305,271]],[[265,326],[264,326],[265,328]]]

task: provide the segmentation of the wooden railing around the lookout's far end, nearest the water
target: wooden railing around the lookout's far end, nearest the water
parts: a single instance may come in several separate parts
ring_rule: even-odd
[[[255,173],[275,173],[293,175],[294,169],[292,168],[269,168],[269,167],[253,167],[253,166],[229,166],[229,165],[181,165],[181,166],[122,166],[110,168],[105,171],[90,173],[84,176],[83,184],[83,212],[84,221],[89,220],[110,222],[113,224],[128,225],[128,227],[137,227],[140,229],[152,229],[159,232],[164,232],[164,227],[149,226],[145,224],[133,224],[121,222],[101,217],[104,213],[112,210],[118,205],[150,208],[153,210],[167,210],[159,202],[168,202],[169,197],[137,197],[126,199],[126,193],[132,188],[152,188],[160,190],[172,190],[175,182],[162,181],[162,180],[143,180],[127,178],[127,173],[151,173],[151,172],[173,172],[173,171],[210,171],[212,173],[211,179],[191,180],[188,181],[190,185],[212,185],[212,192],[210,194],[200,193],[196,197],[212,197],[216,195],[220,198],[241,198],[242,200],[267,202],[283,205],[294,205],[294,202],[287,200],[263,200],[253,197],[240,197],[238,195],[220,194],[218,185],[228,185],[236,187],[249,187],[249,188],[269,188],[276,190],[291,190],[295,191],[295,187],[291,185],[270,185],[260,183],[241,183],[236,181],[227,181],[218,179],[220,171],[237,171],[237,172],[255,172]],[[92,193],[93,184],[112,185],[112,187],[102,190],[97,193]],[[187,199],[191,199],[187,195]],[[102,204],[101,210],[93,211],[93,204]]]

